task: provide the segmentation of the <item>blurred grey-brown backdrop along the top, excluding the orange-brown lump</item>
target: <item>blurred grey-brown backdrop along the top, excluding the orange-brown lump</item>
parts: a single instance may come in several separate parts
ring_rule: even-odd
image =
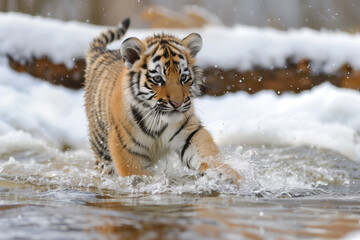
[[[216,16],[217,21],[229,26],[360,30],[360,1],[357,0],[0,0],[0,11],[99,25],[115,25],[131,16],[132,27],[140,28],[149,27],[149,21],[144,21],[144,12],[150,6],[165,7],[174,11],[174,15],[187,5],[202,7]]]

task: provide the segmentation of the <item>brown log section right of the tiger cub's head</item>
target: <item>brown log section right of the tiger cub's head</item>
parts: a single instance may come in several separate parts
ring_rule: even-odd
[[[207,68],[204,72],[206,76],[204,93],[207,95],[218,96],[239,90],[253,94],[263,89],[272,89],[278,94],[299,93],[326,81],[338,87],[360,89],[360,71],[348,73],[339,70],[330,75],[315,74],[311,72],[311,62],[306,59],[299,62],[289,59],[284,68],[255,68],[245,72]]]

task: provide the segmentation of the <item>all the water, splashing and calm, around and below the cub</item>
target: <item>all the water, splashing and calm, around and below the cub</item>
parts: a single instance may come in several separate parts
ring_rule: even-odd
[[[0,239],[339,239],[360,231],[358,162],[311,146],[230,146],[239,187],[182,168],[101,174],[88,151],[0,152]],[[357,235],[359,236],[359,235]]]

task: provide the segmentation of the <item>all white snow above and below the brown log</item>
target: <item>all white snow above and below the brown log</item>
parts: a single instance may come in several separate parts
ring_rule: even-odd
[[[88,24],[0,13],[0,155],[16,148],[43,145],[60,150],[64,145],[88,150],[83,92],[14,72],[4,54],[19,59],[46,54],[70,66],[72,58],[83,56],[89,40],[101,29]],[[247,69],[254,64],[282,65],[288,56],[309,57],[329,71],[344,62],[360,65],[360,57],[356,56],[360,52],[359,36],[308,29],[284,33],[243,26],[213,26],[199,32],[204,38],[204,49],[199,55],[203,66],[217,64],[223,68]],[[145,37],[150,31],[132,30],[128,36],[132,34]],[[301,94],[278,96],[264,90],[254,95],[238,92],[202,97],[195,102],[204,125],[221,146],[311,145],[360,161],[360,104],[357,103],[360,103],[358,91],[328,83]]]

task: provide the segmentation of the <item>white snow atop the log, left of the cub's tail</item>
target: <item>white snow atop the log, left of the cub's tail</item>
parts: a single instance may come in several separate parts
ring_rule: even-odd
[[[102,28],[21,13],[0,13],[0,55],[15,60],[49,56],[54,63],[72,67],[83,57],[89,40]]]

